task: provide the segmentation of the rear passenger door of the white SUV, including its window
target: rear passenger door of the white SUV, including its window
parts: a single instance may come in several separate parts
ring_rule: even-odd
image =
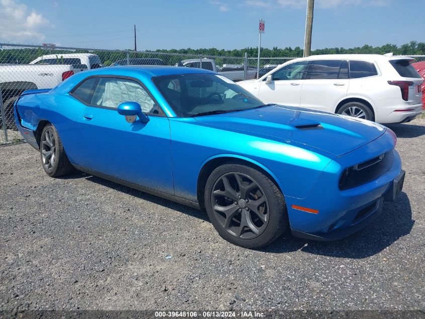
[[[347,60],[313,60],[301,88],[301,107],[333,112],[347,96]]]

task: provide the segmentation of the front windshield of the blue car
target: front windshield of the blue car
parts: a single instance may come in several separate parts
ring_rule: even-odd
[[[180,74],[152,78],[180,117],[257,108],[262,101],[233,81],[216,74]]]

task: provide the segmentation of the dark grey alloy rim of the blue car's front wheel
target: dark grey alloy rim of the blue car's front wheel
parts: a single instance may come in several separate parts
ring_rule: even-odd
[[[217,220],[236,238],[256,238],[269,223],[267,197],[261,186],[245,174],[222,175],[213,186],[211,203]]]

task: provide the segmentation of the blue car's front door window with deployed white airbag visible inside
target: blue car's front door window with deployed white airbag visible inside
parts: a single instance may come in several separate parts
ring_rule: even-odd
[[[139,83],[121,78],[100,78],[90,105],[117,108],[128,101],[139,103],[144,113],[160,113],[158,105]]]

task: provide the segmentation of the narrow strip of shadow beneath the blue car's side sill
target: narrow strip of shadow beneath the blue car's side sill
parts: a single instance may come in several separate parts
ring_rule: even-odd
[[[155,195],[150,195],[148,193],[142,192],[141,190],[137,190],[137,189],[134,189],[134,188],[131,188],[131,187],[128,187],[128,186],[124,186],[124,185],[109,181],[109,180],[101,178],[101,177],[86,174],[86,173],[83,173],[83,172],[76,172],[73,175],[64,176],[62,178],[63,179],[85,178],[88,181],[91,181],[91,182],[94,182],[94,183],[97,183],[97,184],[100,184],[102,186],[106,186],[106,187],[109,187],[109,188],[113,188],[113,189],[117,190],[118,192],[137,197],[141,200],[148,201],[148,202],[151,202],[151,203],[154,203],[154,204],[158,204],[158,205],[161,205],[161,206],[166,207],[168,209],[172,209],[172,210],[178,211],[180,213],[199,218],[199,219],[204,220],[204,221],[209,221],[207,213],[205,213],[203,211],[200,211],[198,209],[194,209],[194,208],[191,208],[189,206],[185,206],[185,205],[173,202],[173,201],[169,201],[169,200],[163,199],[163,198],[155,196]]]

